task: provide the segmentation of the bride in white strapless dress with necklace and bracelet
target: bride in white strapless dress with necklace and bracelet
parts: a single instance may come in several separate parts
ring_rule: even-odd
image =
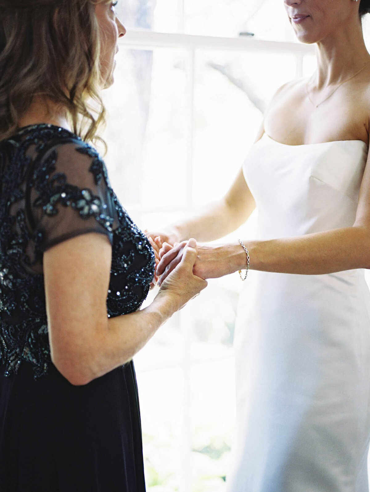
[[[184,241],[211,241],[254,207],[235,335],[229,492],[367,492],[370,437],[370,55],[367,0],[285,0],[317,70],[286,84],[227,195],[160,233],[158,275]],[[179,244],[175,244],[179,243]],[[194,273],[246,268],[242,245],[201,244]],[[167,267],[167,268],[166,268]]]

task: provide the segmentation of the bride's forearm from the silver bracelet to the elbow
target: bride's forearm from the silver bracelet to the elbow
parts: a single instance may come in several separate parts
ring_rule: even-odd
[[[296,238],[245,241],[250,269],[301,275],[321,275],[370,267],[370,231],[345,227]],[[232,251],[236,251],[237,244]],[[240,246],[233,254],[233,271],[245,268],[246,253]],[[231,273],[231,272],[230,272]]]

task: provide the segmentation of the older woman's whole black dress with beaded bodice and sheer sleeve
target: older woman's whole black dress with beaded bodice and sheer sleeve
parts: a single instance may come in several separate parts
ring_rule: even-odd
[[[154,252],[103,160],[48,124],[0,142],[0,491],[145,491],[133,363],[73,386],[50,358],[43,252],[97,232],[112,244],[107,316],[138,309]],[[78,303],[78,299],[76,299]]]

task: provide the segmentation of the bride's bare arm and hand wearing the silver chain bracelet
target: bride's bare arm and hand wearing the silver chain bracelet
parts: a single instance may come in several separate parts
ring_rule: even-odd
[[[295,238],[245,240],[244,244],[249,250],[250,269],[253,270],[320,275],[370,268],[370,157],[364,172],[356,219],[352,227]],[[183,244],[180,244],[171,250],[169,246],[162,249],[161,261],[157,268],[158,275],[166,269],[165,277],[171,271],[181,257],[182,247]],[[203,278],[221,277],[245,268],[246,258],[244,249],[237,241],[220,246],[198,245],[194,274]]]

